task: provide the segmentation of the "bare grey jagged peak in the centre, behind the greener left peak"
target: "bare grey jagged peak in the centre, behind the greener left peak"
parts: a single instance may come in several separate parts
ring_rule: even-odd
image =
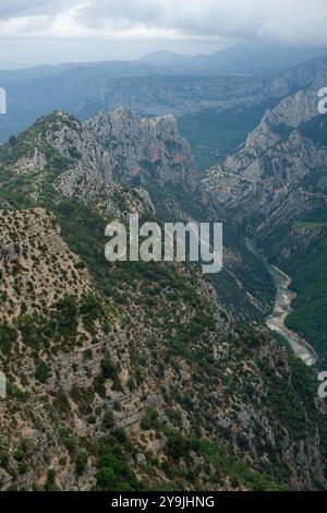
[[[174,116],[141,119],[120,107],[94,116],[86,127],[109,152],[113,175],[124,184],[150,179],[195,190],[195,163]]]

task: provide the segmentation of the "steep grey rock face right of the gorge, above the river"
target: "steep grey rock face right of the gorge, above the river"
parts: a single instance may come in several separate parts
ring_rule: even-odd
[[[317,82],[320,74],[313,87],[267,110],[240,152],[203,180],[205,195],[237,223],[270,229],[326,202],[327,147],[302,130],[318,116]]]

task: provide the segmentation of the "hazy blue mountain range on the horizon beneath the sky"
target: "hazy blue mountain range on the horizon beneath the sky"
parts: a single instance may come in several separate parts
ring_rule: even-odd
[[[276,44],[243,44],[209,55],[187,56],[172,51],[156,51],[136,61],[68,62],[58,65],[14,68],[0,63],[0,83],[53,76],[72,69],[102,72],[112,79],[157,76],[167,74],[259,74],[276,73],[301,62],[327,55],[327,47],[303,47]]]

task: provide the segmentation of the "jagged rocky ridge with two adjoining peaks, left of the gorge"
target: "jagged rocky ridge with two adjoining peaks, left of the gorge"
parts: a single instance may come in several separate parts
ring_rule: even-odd
[[[34,198],[50,180],[66,198],[108,215],[119,214],[118,203],[132,206],[132,212],[154,212],[145,190],[148,182],[158,189],[196,189],[192,152],[178,134],[173,116],[142,120],[120,108],[83,124],[56,111],[26,131],[19,144],[24,151],[17,162],[12,157],[17,146],[7,146],[8,167],[15,176],[33,175]],[[57,176],[51,176],[53,169]]]

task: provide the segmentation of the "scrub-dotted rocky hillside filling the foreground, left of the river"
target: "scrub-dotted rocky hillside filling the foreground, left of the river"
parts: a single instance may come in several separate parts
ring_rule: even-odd
[[[52,214],[0,230],[3,490],[326,487],[311,370],[194,269],[114,265],[105,297]]]

